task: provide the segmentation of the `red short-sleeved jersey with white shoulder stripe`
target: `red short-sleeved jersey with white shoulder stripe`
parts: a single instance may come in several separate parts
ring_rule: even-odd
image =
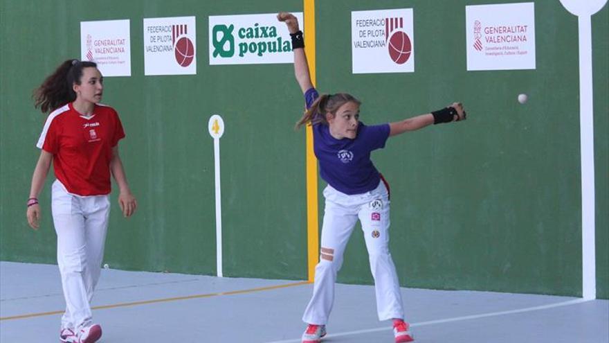
[[[69,193],[110,193],[112,148],[125,137],[116,111],[95,105],[91,116],[77,112],[72,103],[46,118],[37,147],[53,154],[53,169]]]

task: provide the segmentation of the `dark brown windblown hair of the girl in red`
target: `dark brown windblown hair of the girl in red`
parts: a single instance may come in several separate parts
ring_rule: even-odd
[[[76,99],[76,93],[72,87],[74,84],[80,85],[82,69],[97,66],[95,62],[89,61],[64,61],[34,91],[34,107],[40,107],[42,113],[47,113],[66,103],[71,103]]]

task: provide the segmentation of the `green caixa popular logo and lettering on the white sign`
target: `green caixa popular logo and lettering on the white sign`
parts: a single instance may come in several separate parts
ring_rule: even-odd
[[[235,24],[217,24],[212,28],[213,58],[239,58],[247,55],[263,57],[269,54],[292,51],[291,42],[277,33],[276,26],[235,28]]]

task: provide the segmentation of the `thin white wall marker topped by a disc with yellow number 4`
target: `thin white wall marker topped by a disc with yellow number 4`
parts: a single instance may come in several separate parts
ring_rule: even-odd
[[[222,204],[220,196],[220,137],[224,134],[222,117],[214,114],[208,123],[210,135],[214,139],[214,166],[216,179],[216,269],[222,277]]]

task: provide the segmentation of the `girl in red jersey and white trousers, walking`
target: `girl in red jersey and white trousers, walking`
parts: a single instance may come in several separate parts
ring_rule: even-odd
[[[102,329],[93,324],[90,302],[100,276],[110,211],[110,174],[125,217],[137,207],[118,155],[125,137],[116,111],[101,105],[103,77],[94,62],[66,60],[35,91],[35,106],[51,112],[38,140],[40,157],[28,199],[28,223],[38,229],[38,195],[51,162],[51,209],[57,233],[57,264],[62,276],[66,312],[61,342],[92,343]]]

